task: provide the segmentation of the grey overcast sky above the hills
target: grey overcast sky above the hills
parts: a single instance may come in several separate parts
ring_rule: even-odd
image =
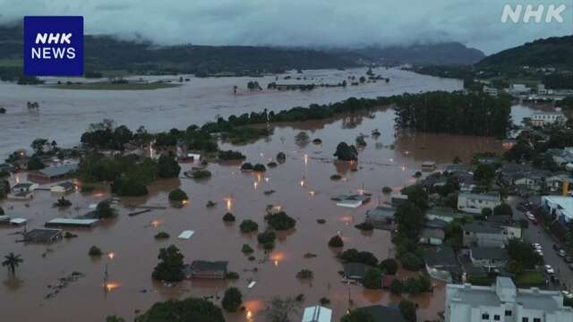
[[[501,23],[505,4],[565,4],[563,23]],[[573,33],[573,0],[0,0],[0,23],[83,15],[85,33],[159,44],[358,47],[456,40],[492,54]]]

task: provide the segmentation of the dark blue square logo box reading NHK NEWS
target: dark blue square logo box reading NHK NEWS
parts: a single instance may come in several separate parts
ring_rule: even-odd
[[[28,76],[81,76],[83,17],[24,17],[24,73]]]

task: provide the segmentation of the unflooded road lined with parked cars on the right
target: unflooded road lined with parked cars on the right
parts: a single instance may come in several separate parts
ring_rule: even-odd
[[[527,220],[525,213],[517,210],[515,207],[517,203],[524,200],[526,199],[520,199],[517,197],[509,199],[509,204],[513,208],[514,219]],[[533,197],[529,200],[536,205],[539,204],[539,197]],[[563,248],[563,245],[554,241],[552,235],[550,233],[546,233],[541,225],[533,225],[531,221],[529,221],[529,228],[523,230],[522,238],[527,242],[536,242],[542,246],[543,260],[545,261],[545,264],[549,264],[553,267],[555,270],[555,276],[559,277],[561,284],[563,284],[568,290],[573,290],[573,270],[569,268],[569,264],[566,263],[563,258],[560,258],[560,256],[557,255],[557,251],[553,250],[553,244],[558,244],[561,248]],[[552,285],[552,288],[562,289],[562,287],[557,287],[557,285]]]

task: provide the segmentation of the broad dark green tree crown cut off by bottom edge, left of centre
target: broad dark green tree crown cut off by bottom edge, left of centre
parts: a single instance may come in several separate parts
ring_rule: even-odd
[[[135,322],[225,322],[223,310],[210,301],[187,298],[153,304]]]

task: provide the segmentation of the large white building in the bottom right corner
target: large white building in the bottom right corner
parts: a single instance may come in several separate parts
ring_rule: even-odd
[[[559,291],[517,289],[509,277],[492,286],[448,284],[446,322],[570,322],[573,309],[563,306]]]

